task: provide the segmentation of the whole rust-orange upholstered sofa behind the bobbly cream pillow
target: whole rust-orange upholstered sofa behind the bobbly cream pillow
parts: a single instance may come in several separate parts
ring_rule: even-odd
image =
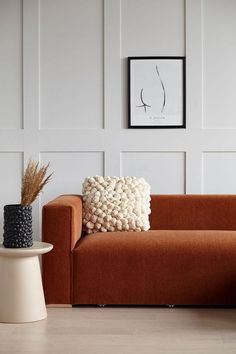
[[[236,304],[236,196],[152,195],[151,230],[82,236],[82,198],[43,207],[47,304]]]

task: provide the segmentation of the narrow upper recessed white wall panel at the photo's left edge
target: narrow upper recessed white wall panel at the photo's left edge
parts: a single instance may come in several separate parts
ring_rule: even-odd
[[[0,128],[22,127],[22,2],[0,1]]]

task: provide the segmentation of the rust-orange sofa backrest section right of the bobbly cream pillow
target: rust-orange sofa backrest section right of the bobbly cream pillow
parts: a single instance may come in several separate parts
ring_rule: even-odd
[[[151,195],[151,230],[236,230],[236,195]]]

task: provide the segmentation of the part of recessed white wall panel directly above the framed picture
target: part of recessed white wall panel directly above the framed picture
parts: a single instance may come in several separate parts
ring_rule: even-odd
[[[121,0],[121,53],[185,55],[184,0]]]

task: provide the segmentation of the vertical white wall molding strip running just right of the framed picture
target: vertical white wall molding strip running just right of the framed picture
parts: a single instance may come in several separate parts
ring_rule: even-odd
[[[201,194],[202,1],[185,1],[186,45],[186,193]]]

